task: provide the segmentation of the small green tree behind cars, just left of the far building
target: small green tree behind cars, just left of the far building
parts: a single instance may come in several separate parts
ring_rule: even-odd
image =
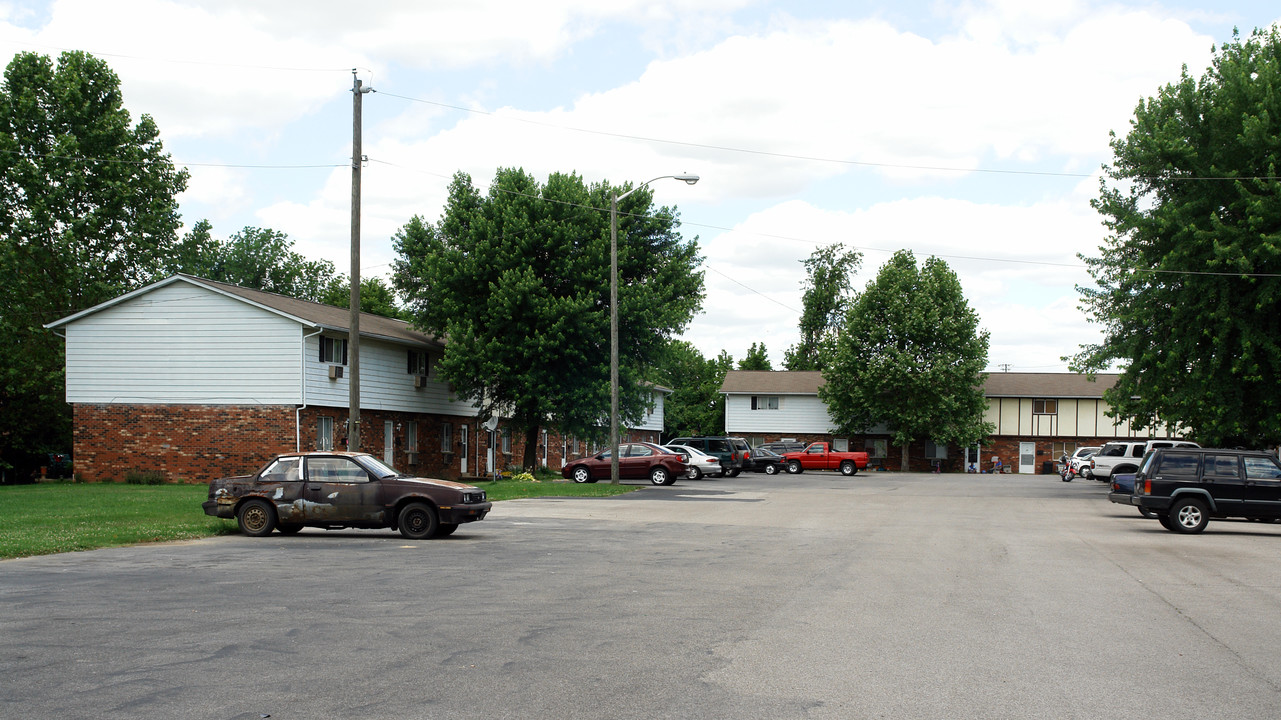
[[[658,384],[673,389],[664,402],[664,439],[725,434],[725,396],[720,388],[733,368],[734,359],[724,350],[716,357],[703,357],[687,341],[667,345],[655,368]]]

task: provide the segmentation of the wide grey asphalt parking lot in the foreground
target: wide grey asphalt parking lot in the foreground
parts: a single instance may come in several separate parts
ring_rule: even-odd
[[[806,473],[10,560],[0,716],[1275,719],[1278,555],[1089,480]]]

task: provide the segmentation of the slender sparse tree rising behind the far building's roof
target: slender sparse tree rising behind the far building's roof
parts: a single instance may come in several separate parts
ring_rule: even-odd
[[[801,297],[801,342],[783,354],[788,370],[822,370],[831,361],[836,334],[853,299],[851,277],[863,256],[842,243],[815,250],[804,260],[806,283]]]

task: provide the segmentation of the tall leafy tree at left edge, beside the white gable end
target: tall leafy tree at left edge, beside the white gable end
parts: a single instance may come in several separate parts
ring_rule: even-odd
[[[22,53],[0,86],[0,468],[70,447],[63,341],[42,324],[155,279],[187,183],[86,53]]]

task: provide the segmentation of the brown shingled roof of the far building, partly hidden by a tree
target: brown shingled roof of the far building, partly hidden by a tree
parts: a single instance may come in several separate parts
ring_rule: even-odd
[[[984,382],[986,397],[1103,397],[1117,382],[1116,373],[1090,379],[1079,373],[991,373]],[[722,395],[819,395],[820,372],[730,370],[721,383]]]

